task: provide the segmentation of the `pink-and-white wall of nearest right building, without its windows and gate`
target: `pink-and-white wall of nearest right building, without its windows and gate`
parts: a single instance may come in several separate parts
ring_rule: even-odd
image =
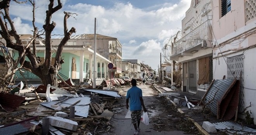
[[[246,111],[252,112],[250,115],[256,123],[256,63],[253,59],[256,57],[256,17],[247,19],[251,11],[246,9],[248,2],[254,3],[251,9],[255,11],[255,0],[231,0],[231,11],[221,17],[220,0],[213,0],[213,34],[216,37],[213,39],[213,76],[214,79],[227,76],[227,58],[243,55],[244,108],[252,103]]]

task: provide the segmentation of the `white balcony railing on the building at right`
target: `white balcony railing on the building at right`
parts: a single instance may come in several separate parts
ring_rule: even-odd
[[[173,45],[172,56],[202,44],[203,40],[211,39],[210,26],[211,20],[207,20],[175,42]]]

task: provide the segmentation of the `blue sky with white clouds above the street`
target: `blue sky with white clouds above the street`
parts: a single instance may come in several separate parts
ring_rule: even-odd
[[[55,0],[57,3],[57,0]],[[171,35],[181,29],[182,19],[191,0],[61,0],[63,7],[55,12],[52,34],[63,35],[64,11],[75,13],[67,26],[76,33],[97,34],[118,38],[122,59],[138,59],[152,69],[160,65],[160,53]],[[35,0],[36,26],[42,30],[49,0]],[[57,5],[57,4],[55,4]],[[32,34],[32,9],[29,3],[10,3],[10,15],[18,34]],[[162,58],[162,63],[163,63]]]

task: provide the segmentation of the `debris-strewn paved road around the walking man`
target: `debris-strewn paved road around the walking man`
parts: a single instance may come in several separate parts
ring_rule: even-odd
[[[161,114],[161,112],[158,111],[159,108],[157,108],[157,105],[159,104],[159,100],[157,99],[157,96],[158,96],[157,91],[150,88],[149,85],[138,85],[138,87],[142,89],[144,104],[148,110],[149,119]],[[123,94],[125,94],[125,96],[128,89],[129,88],[124,89]],[[115,114],[111,120],[111,124],[114,127],[111,134],[112,135],[133,135],[135,130],[133,125],[131,124],[129,112],[126,109],[125,97],[122,100],[120,100],[118,104],[121,104],[123,106],[119,108],[120,113]],[[149,123],[149,125],[144,125],[143,123],[141,123],[140,129],[141,129],[140,135],[188,135],[178,130],[158,132],[152,128],[152,123]]]

